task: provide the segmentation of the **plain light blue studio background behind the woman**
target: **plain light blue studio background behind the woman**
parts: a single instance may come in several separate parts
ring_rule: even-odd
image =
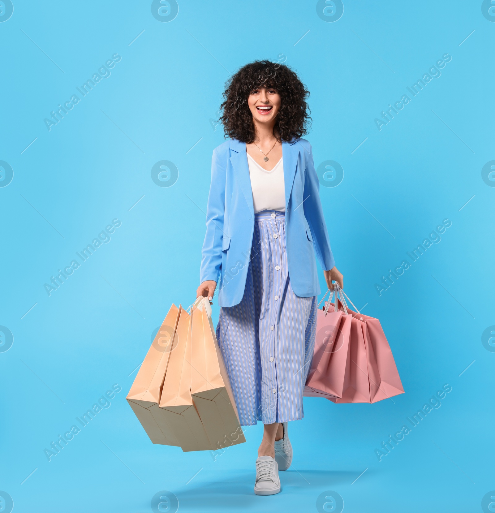
[[[0,23],[0,160],[14,171],[0,187],[0,324],[13,333],[0,489],[14,511],[144,512],[161,490],[184,512],[316,511],[325,490],[347,512],[482,511],[495,489],[495,353],[481,340],[495,325],[495,188],[481,176],[495,159],[495,23],[481,0],[345,1],[334,23],[315,1],[181,1],[170,23],[150,4],[17,0]],[[44,118],[114,53],[111,75],[48,131]],[[379,131],[375,117],[445,53],[442,75]],[[344,170],[320,190],[336,265],[380,319],[406,391],[372,405],[306,398],[273,497],[252,491],[261,424],[224,453],[183,453],[152,445],[125,400],[170,304],[194,300],[224,140],[212,120],[229,75],[256,58],[292,66],[311,91],[315,164]],[[172,187],[151,180],[160,160],[179,170]],[[49,297],[44,283],[115,218],[111,241]],[[379,296],[374,284],[446,218],[441,242]],[[111,406],[49,462],[44,449],[114,383]],[[446,383],[441,407],[379,462],[375,449]]]

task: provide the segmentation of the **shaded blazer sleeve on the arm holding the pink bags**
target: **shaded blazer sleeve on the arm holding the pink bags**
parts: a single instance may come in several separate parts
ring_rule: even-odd
[[[322,203],[320,201],[320,182],[314,169],[313,151],[309,145],[309,157],[306,164],[304,178],[304,215],[309,224],[313,236],[314,249],[321,266],[329,271],[335,266],[330,239],[328,238],[327,225],[323,217]]]

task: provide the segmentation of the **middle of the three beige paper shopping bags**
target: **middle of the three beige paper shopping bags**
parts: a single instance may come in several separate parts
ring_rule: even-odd
[[[160,408],[153,411],[157,423],[162,419],[173,432],[183,451],[212,447],[191,398],[191,315],[182,309],[176,334],[179,343],[170,353]]]

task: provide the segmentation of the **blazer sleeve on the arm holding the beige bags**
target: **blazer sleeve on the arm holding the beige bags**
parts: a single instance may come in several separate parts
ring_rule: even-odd
[[[203,242],[200,282],[219,281],[222,268],[222,237],[225,215],[226,162],[217,149],[211,159],[211,184],[206,207],[206,235]]]

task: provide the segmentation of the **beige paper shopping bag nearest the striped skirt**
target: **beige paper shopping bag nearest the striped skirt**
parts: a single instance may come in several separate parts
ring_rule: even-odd
[[[192,307],[191,395],[212,449],[246,441],[206,298]]]

